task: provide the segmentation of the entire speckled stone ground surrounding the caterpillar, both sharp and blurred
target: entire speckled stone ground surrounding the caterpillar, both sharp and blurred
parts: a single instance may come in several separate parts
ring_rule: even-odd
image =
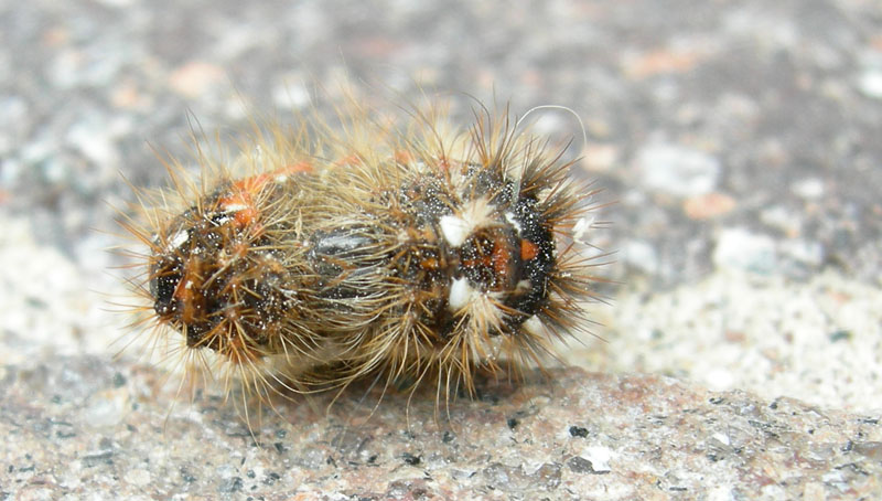
[[[882,498],[880,33],[867,0],[0,0],[0,493]],[[593,237],[621,285],[563,350],[590,372],[449,425],[431,398],[280,404],[251,436],[212,390],[166,419],[163,370],[114,359],[123,177],[164,185],[153,148],[340,83],[583,119],[585,145],[537,117],[616,202]]]

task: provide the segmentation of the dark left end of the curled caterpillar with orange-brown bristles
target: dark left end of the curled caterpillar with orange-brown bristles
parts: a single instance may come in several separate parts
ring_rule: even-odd
[[[186,345],[234,362],[271,353],[295,310],[289,270],[266,236],[254,192],[233,184],[176,216],[153,243],[149,290]]]

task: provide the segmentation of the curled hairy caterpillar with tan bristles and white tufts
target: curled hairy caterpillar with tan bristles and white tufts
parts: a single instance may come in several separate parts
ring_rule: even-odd
[[[583,330],[599,278],[573,232],[594,191],[507,109],[464,129],[439,109],[273,126],[232,161],[198,150],[198,180],[168,162],[174,188],[122,223],[154,339],[261,398],[370,380],[440,399]]]

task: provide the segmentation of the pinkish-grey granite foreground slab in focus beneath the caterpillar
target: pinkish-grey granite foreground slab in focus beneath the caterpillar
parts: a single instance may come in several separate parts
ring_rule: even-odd
[[[879,419],[653,375],[555,371],[476,401],[347,392],[244,425],[208,394],[171,411],[151,369],[7,366],[14,499],[872,499]],[[428,394],[427,394],[428,393]],[[450,419],[447,415],[449,414]],[[283,416],[283,417],[280,417]],[[32,448],[33,444],[51,447]]]

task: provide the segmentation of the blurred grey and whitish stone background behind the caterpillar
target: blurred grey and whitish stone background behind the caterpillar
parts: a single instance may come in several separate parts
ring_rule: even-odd
[[[569,362],[879,406],[874,0],[2,1],[0,364],[114,353],[114,207],[126,179],[165,184],[154,149],[186,158],[194,121],[243,130],[342,85],[581,117],[587,143],[539,118],[615,202],[593,242],[620,285]]]

